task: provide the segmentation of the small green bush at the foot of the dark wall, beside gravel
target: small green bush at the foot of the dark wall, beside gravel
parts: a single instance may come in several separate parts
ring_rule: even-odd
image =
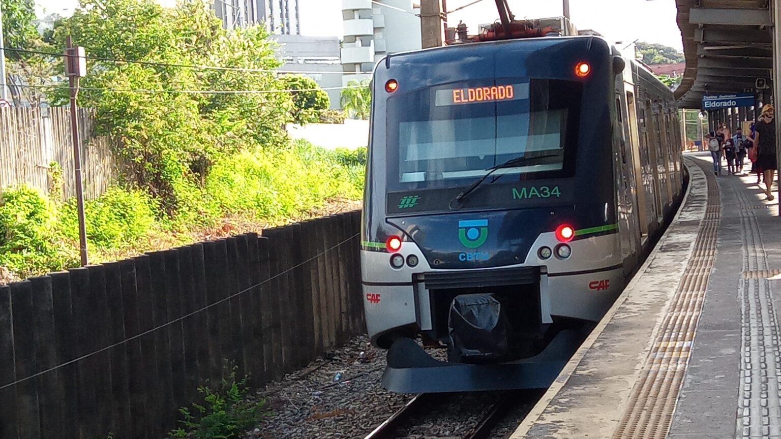
[[[236,381],[236,369],[228,379],[223,379],[216,390],[198,387],[203,402],[194,403],[193,409],[179,409],[184,419],[182,427],[171,431],[171,437],[180,439],[227,439],[242,437],[249,428],[257,425],[267,415],[266,403],[247,399],[247,378]]]

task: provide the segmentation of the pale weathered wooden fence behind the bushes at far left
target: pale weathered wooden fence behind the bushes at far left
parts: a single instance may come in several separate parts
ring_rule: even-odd
[[[78,111],[86,198],[101,195],[118,175],[111,141],[91,135],[92,114],[90,109]],[[48,191],[51,162],[62,166],[64,195],[75,196],[70,108],[0,108],[0,188],[28,184]]]

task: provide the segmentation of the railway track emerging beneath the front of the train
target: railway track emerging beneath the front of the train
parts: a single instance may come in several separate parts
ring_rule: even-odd
[[[471,425],[465,425],[461,431],[458,432],[458,437],[462,439],[487,439],[490,437],[491,430],[496,427],[497,423],[501,422],[507,413],[516,405],[526,402],[526,398],[523,398],[521,392],[502,392],[501,394],[495,394],[496,398],[492,398],[490,406],[485,409],[484,405],[476,404],[473,408],[473,412],[476,416],[472,416],[476,419],[476,422]],[[435,415],[437,411],[443,411],[445,406],[451,404],[453,394],[417,394],[401,409],[398,409],[391,417],[381,423],[376,429],[374,429],[364,439],[396,439],[397,437],[406,437],[406,434],[400,432],[408,430],[411,426],[415,425],[416,419],[422,419],[426,415]],[[484,397],[484,395],[483,395]],[[467,397],[467,399],[469,399]],[[469,404],[469,402],[465,402]],[[443,421],[445,422],[445,421]],[[426,437],[437,437],[436,434],[426,434]],[[452,438],[453,434],[447,434],[446,436]]]

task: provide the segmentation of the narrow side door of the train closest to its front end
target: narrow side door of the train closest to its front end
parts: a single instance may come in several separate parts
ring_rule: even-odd
[[[620,80],[620,78],[619,78]],[[621,239],[622,260],[628,267],[634,265],[633,259],[637,257],[637,246],[640,242],[638,225],[634,206],[634,178],[632,166],[632,150],[630,147],[629,120],[626,116],[626,102],[623,100],[623,82],[619,83],[620,89],[615,93],[615,123],[614,137],[618,146],[615,155],[614,166],[616,170],[616,198],[618,202],[617,217],[619,220],[619,237]],[[628,273],[626,273],[628,274]]]

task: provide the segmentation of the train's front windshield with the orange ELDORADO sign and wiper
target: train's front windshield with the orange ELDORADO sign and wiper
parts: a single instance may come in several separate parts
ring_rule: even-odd
[[[574,175],[583,85],[570,80],[464,81],[387,100],[391,190],[458,187],[491,166],[505,180]]]

